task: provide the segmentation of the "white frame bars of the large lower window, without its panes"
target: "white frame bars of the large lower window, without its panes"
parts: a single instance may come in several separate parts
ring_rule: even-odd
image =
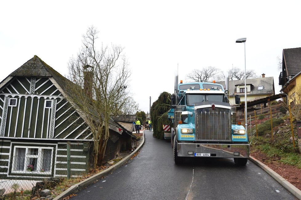
[[[16,163],[17,161],[15,160],[17,157],[17,148],[26,148],[25,151],[25,162],[24,162],[24,169],[21,170],[16,170]],[[38,155],[30,155],[29,154],[29,149],[38,149]],[[50,159],[50,171],[49,172],[41,172],[40,170],[43,167],[43,155],[42,155],[42,149],[51,149],[51,159]],[[14,153],[13,153],[13,164],[11,168],[11,173],[24,173],[24,174],[51,174],[52,172],[52,161],[53,161],[53,147],[49,146],[14,146]],[[26,168],[29,165],[29,158],[38,158],[38,165],[37,165],[37,171],[27,171]]]

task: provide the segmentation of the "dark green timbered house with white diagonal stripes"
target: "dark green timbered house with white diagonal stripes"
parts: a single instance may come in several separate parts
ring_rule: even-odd
[[[0,83],[2,179],[66,176],[67,142],[71,175],[88,169],[92,133],[66,98],[66,80],[34,56]],[[113,120],[110,134],[109,142],[116,148],[107,153],[107,159],[131,146],[131,133]]]

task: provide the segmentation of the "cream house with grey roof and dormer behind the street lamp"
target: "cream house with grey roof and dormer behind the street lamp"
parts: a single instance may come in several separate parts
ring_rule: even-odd
[[[216,82],[223,85],[225,82]],[[247,102],[269,97],[275,94],[274,78],[265,77],[262,74],[262,78],[250,78],[246,80],[247,87]],[[235,104],[235,95],[240,96],[240,101],[245,101],[245,80],[233,80],[229,82],[229,100],[231,104]]]

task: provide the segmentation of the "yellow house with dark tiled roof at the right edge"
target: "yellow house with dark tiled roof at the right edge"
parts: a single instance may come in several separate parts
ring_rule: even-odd
[[[279,75],[281,92],[288,95],[288,103],[300,102],[301,96],[301,47],[283,49],[282,72]]]

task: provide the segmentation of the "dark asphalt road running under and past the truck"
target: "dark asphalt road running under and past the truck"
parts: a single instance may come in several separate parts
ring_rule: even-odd
[[[197,158],[175,165],[170,142],[145,130],[140,154],[73,199],[295,199],[251,161]]]

